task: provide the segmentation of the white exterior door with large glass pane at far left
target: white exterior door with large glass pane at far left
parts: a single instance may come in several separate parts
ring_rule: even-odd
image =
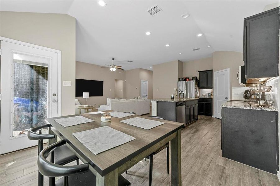
[[[3,40],[1,51],[3,154],[38,144],[27,138],[27,131],[46,124],[45,118],[58,116],[59,88],[57,52]]]

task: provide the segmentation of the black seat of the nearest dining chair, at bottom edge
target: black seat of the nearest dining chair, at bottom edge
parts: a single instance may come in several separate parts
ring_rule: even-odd
[[[96,176],[90,172],[68,176],[69,186],[96,186]],[[62,186],[63,178],[58,179],[55,182],[55,186]],[[119,176],[118,186],[130,186],[130,182],[125,179],[122,175]]]

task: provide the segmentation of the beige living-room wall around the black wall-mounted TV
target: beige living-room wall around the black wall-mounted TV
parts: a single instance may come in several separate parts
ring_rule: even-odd
[[[103,96],[91,96],[87,99],[87,104],[106,104],[107,98],[115,97],[115,79],[123,80],[124,87],[126,90],[126,71],[116,70],[114,73],[109,70],[109,68],[101,68],[102,66],[83,63],[76,61],[76,78],[77,79],[89,79],[103,81]],[[121,72],[121,74],[120,74]],[[110,91],[111,89],[111,91]],[[124,97],[125,95],[125,91]],[[81,104],[85,104],[85,99],[83,97],[77,97]]]

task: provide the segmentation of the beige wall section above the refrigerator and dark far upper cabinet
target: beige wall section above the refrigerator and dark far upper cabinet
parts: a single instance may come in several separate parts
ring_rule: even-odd
[[[213,69],[212,56],[199,60],[183,62],[183,77],[191,78],[196,76],[199,78],[198,71],[211,69]]]

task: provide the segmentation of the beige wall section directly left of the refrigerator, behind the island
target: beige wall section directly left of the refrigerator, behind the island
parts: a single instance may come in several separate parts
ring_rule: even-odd
[[[175,92],[180,75],[180,62],[175,60],[153,65],[153,98],[168,98]]]

